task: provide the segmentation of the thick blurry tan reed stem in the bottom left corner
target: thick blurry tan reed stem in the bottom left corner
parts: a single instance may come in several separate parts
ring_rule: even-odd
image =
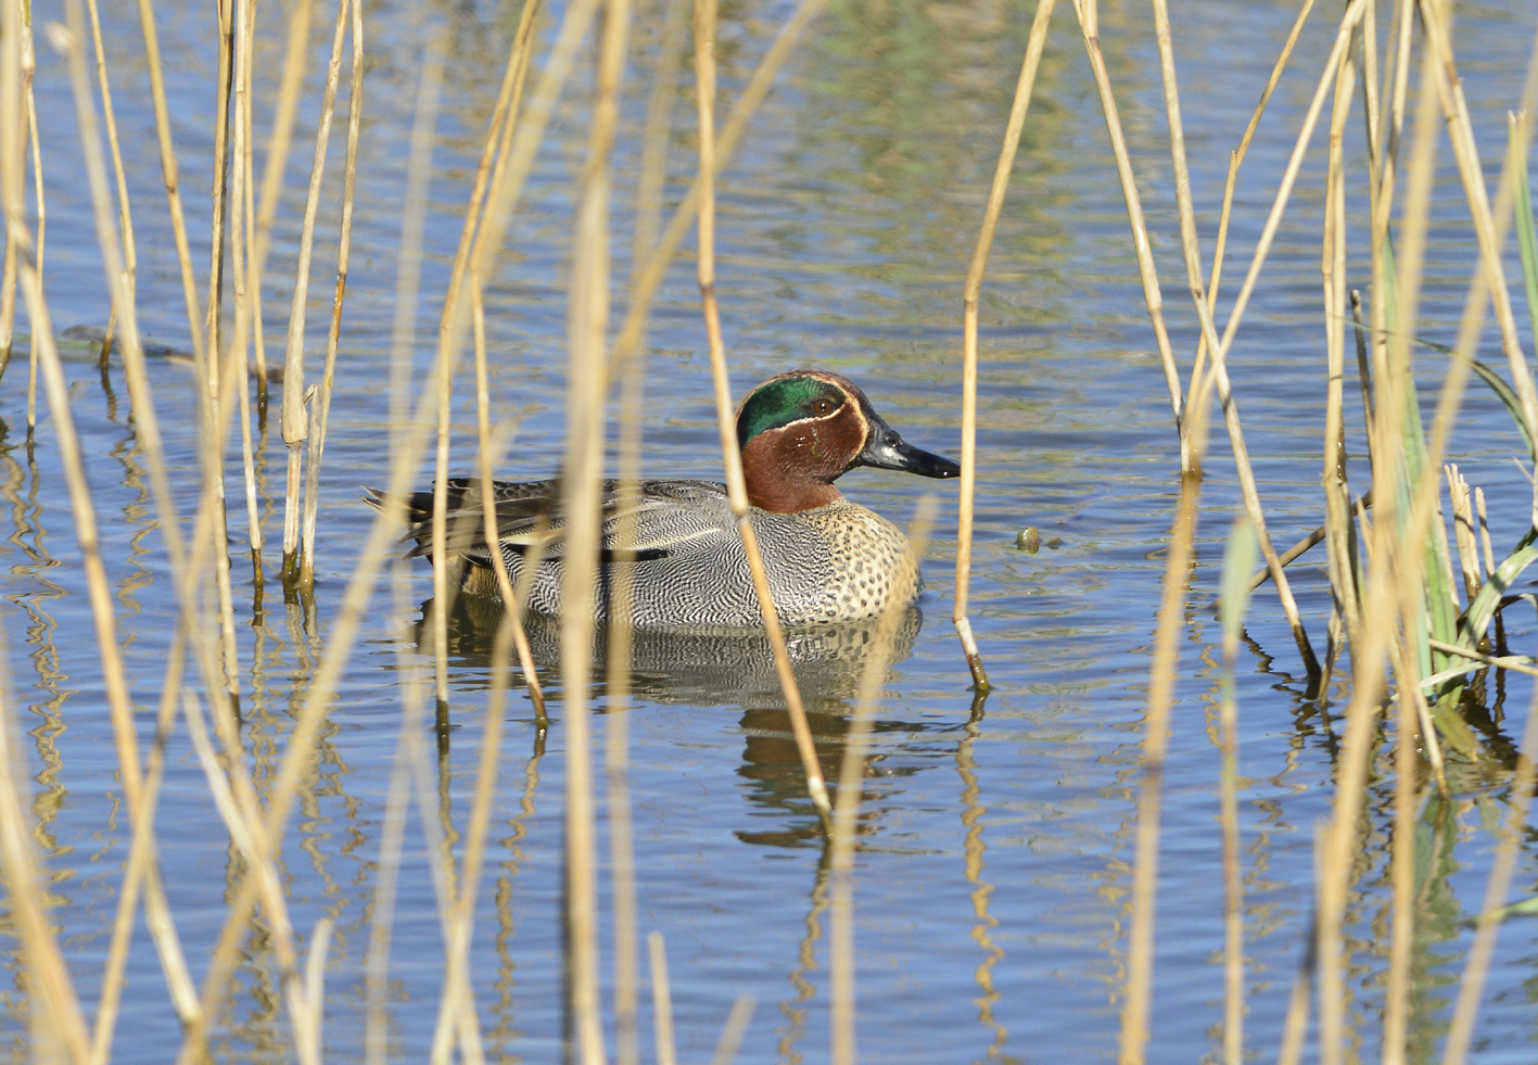
[[[17,5],[6,3],[3,6],[6,9],[6,38],[14,42],[17,38],[17,17],[12,11]],[[14,55],[15,51],[6,46],[5,58],[11,60]],[[14,85],[12,71],[15,68],[9,62],[5,66],[8,68],[5,80],[11,85],[0,89],[0,98],[14,100],[14,94],[8,89]],[[9,114],[15,112],[9,111]],[[15,157],[12,155],[12,159]],[[0,694],[0,857],[3,857],[0,877],[5,879],[11,896],[11,923],[22,940],[22,960],[29,976],[28,990],[31,994],[28,1000],[34,1010],[42,1007],[46,1011],[52,1037],[62,1043],[62,1050],[68,1053],[74,1065],[89,1065],[91,1034],[86,1030],[86,1019],[69,980],[69,968],[65,965],[58,939],[54,936],[48,914],[42,906],[45,890],[34,871],[37,859],[31,845],[32,830],[22,805],[22,794],[17,790],[20,782],[15,771],[20,766],[20,757],[14,750],[15,733],[9,703],[9,693]]]

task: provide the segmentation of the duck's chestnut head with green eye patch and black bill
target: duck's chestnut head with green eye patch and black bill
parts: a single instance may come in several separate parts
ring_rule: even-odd
[[[737,408],[737,443],[747,500],[778,514],[832,503],[834,482],[855,466],[921,477],[961,472],[903,440],[852,380],[820,369],[792,369],[755,388]]]

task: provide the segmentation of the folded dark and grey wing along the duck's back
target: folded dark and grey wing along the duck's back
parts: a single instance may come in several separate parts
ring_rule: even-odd
[[[564,554],[566,520],[560,512],[560,482],[494,482],[491,500],[497,508],[497,540],[504,553],[538,549],[541,559]],[[369,500],[375,506],[380,499]],[[484,502],[480,483],[468,477],[449,480],[449,549],[472,563],[491,565],[486,543]],[[706,480],[641,482],[634,496],[618,491],[617,482],[603,485],[601,557],[620,553],[638,560],[661,559],[675,551],[707,546],[735,536],[726,486]],[[406,539],[417,542],[412,557],[432,553],[432,492],[408,497]],[[626,534],[629,526],[629,534]]]

